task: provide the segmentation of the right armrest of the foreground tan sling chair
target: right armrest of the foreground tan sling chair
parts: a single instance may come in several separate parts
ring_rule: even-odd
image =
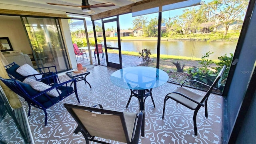
[[[138,144],[139,143],[140,129],[141,129],[142,121],[143,121],[143,116],[144,116],[144,110],[141,110],[140,113],[138,114],[136,130],[135,130],[134,138],[132,139],[131,144]]]

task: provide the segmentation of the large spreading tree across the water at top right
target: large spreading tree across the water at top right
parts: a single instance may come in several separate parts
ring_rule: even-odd
[[[224,26],[224,35],[227,35],[230,24],[244,16],[248,0],[213,0],[208,6],[212,8],[213,16]]]

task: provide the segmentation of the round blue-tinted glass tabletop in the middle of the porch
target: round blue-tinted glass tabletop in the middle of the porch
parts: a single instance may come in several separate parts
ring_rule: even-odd
[[[146,66],[122,68],[110,76],[111,82],[116,86],[132,90],[156,88],[168,79],[168,74],[163,70]]]

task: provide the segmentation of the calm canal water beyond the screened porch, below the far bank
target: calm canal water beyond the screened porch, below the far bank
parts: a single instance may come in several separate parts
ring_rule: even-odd
[[[107,40],[107,44],[115,47],[118,45],[116,40]],[[217,60],[219,56],[224,56],[229,53],[234,54],[237,42],[224,42],[224,41],[194,41],[194,40],[162,40],[160,46],[160,54],[174,55],[174,56],[187,56],[191,58],[201,58],[202,54],[206,52],[214,52],[209,59]],[[122,40],[122,51],[139,52],[144,48],[150,49],[152,54],[157,52],[156,40]]]

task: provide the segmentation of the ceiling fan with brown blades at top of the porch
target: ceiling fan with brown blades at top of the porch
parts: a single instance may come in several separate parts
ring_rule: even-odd
[[[101,3],[101,4],[94,4],[90,5],[88,0],[82,0],[82,5],[81,6],[76,6],[76,5],[68,5],[68,4],[56,4],[56,3],[50,3],[46,2],[46,4],[52,4],[52,5],[57,5],[57,6],[74,6],[74,7],[80,7],[82,8],[83,12],[91,12],[91,8],[101,8],[101,7],[108,7],[108,6],[115,6],[115,4],[111,2],[106,2],[106,3]]]

